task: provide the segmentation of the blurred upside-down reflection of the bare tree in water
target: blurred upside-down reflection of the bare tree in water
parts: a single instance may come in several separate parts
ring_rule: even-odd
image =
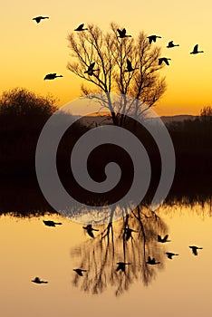
[[[128,240],[126,228],[136,231],[131,233]],[[110,222],[99,229],[101,234],[72,251],[77,261],[81,259],[78,267],[88,270],[83,277],[74,276],[72,281],[84,292],[101,293],[111,285],[116,295],[120,295],[138,279],[148,285],[156,276],[157,269],[146,264],[149,255],[161,263],[157,267],[163,267],[162,249],[157,242],[157,235],[167,233],[167,226],[159,216],[137,207],[120,221]],[[116,271],[118,262],[130,263],[126,265],[125,272]]]

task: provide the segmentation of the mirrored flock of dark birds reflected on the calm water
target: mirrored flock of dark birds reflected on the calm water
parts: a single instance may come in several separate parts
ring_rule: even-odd
[[[61,222],[54,222],[53,220],[43,220],[43,224],[45,226],[60,226],[62,225]],[[84,230],[86,230],[87,234],[90,235],[92,238],[94,238],[95,236],[93,235],[93,231],[99,231],[98,229],[94,229],[92,227],[92,225],[87,225],[87,226],[82,226],[82,228]],[[124,239],[125,241],[128,241],[130,238],[133,239],[132,237],[132,233],[133,232],[138,232],[134,229],[131,229],[129,227],[124,228]],[[158,242],[161,244],[170,242],[171,240],[169,240],[169,235],[165,235],[164,237],[162,237],[161,235],[158,235]],[[202,249],[202,247],[196,246],[196,245],[189,245],[189,248],[191,249],[193,255],[198,255],[198,250]],[[173,252],[166,252],[167,257],[172,260],[173,256],[177,256],[178,254],[175,254]],[[146,264],[149,265],[156,265],[156,264],[160,264],[159,261],[156,261],[156,259],[154,257],[148,256],[148,261],[146,262]],[[116,272],[124,272],[125,273],[125,266],[126,265],[130,265],[130,263],[126,263],[126,262],[117,262],[117,268],[116,268]],[[78,274],[79,276],[83,276],[83,273],[87,272],[87,270],[82,269],[82,268],[75,268],[73,269],[73,271]],[[31,282],[33,283],[37,283],[37,284],[42,284],[42,283],[48,283],[47,281],[43,281],[40,279],[40,277],[36,276],[34,278],[34,280],[32,280]]]

